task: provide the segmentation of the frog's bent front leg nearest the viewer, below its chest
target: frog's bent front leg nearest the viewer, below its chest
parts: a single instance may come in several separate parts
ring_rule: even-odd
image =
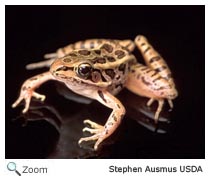
[[[90,120],[84,121],[84,123],[89,124],[91,128],[85,127],[83,131],[88,131],[93,135],[81,138],[78,143],[81,144],[83,141],[97,140],[94,145],[94,150],[97,150],[99,144],[117,129],[125,114],[125,108],[122,103],[107,91],[98,90],[96,92],[96,100],[113,109],[113,111],[104,126]]]

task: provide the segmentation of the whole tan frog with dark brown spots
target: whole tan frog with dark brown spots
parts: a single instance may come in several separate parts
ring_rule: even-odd
[[[147,65],[138,62],[132,51],[137,48]],[[82,142],[95,141],[94,150],[111,136],[119,127],[126,114],[126,109],[116,95],[127,88],[131,92],[150,98],[147,106],[158,101],[154,120],[157,122],[164,100],[173,108],[172,100],[178,96],[171,71],[165,60],[152,47],[143,35],[132,40],[89,39],[60,48],[56,53],[47,54],[47,61],[30,64],[29,69],[49,66],[47,72],[27,79],[21,87],[18,99],[12,104],[15,108],[22,100],[26,113],[30,101],[35,97],[41,101],[45,95],[35,92],[43,83],[54,80],[64,83],[71,91],[97,100],[112,109],[105,124],[98,124],[90,119],[84,120],[89,127],[83,132],[92,134],[79,139]]]

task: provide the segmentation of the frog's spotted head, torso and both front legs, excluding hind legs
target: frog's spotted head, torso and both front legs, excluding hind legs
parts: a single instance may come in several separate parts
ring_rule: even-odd
[[[21,100],[25,100],[25,113],[29,109],[31,97],[39,97],[34,92],[35,88],[46,80],[63,82],[75,93],[95,99],[112,109],[104,125],[90,120],[84,121],[90,124],[91,128],[86,127],[83,131],[89,131],[93,135],[81,138],[79,144],[96,140],[94,149],[97,150],[99,144],[117,129],[125,114],[124,106],[114,95],[124,87],[129,73],[129,62],[136,62],[135,57],[119,43],[112,41],[106,41],[93,49],[73,50],[63,58],[56,59],[50,67],[50,72],[42,74],[42,77],[35,76],[26,80],[20,98],[13,107],[16,107]],[[28,90],[28,87],[31,89]]]

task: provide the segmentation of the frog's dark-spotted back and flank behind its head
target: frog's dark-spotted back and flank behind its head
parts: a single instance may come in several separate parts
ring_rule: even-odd
[[[104,43],[97,50],[96,52],[100,52],[100,58],[93,59],[94,67],[101,70],[105,79],[112,81],[108,91],[115,95],[124,87],[130,66],[136,63],[136,58],[115,42]]]

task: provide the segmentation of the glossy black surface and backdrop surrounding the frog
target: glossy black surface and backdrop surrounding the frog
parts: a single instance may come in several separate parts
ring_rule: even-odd
[[[6,6],[5,158],[205,158],[204,14],[204,6]],[[166,133],[139,124],[139,109],[154,112],[157,103],[145,108],[147,99],[127,90],[119,94],[127,115],[99,152],[77,145],[86,135],[84,119],[104,123],[110,113],[97,101],[68,100],[48,82],[37,90],[46,94],[44,104],[33,101],[25,116],[23,106],[11,108],[22,82],[47,70],[27,71],[26,64],[78,40],[138,34],[166,59],[179,91],[174,110],[168,113],[165,105],[162,113],[171,120],[158,126]],[[143,63],[137,50],[135,55]]]

